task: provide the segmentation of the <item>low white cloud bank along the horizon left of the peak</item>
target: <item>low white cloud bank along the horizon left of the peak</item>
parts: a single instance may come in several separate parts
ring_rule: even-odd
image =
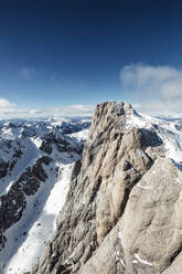
[[[0,98],[0,119],[13,118],[51,118],[65,116],[90,116],[94,112],[93,106],[72,105],[61,106],[44,109],[26,109],[9,102],[6,98]]]

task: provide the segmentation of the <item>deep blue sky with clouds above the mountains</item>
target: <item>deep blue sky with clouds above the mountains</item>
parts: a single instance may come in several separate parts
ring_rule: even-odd
[[[180,114],[181,14],[180,0],[0,1],[0,118],[106,101]]]

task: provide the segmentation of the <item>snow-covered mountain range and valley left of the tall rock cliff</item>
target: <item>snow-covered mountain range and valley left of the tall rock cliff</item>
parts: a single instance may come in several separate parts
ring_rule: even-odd
[[[52,238],[89,124],[86,118],[1,122],[1,274],[30,271]]]

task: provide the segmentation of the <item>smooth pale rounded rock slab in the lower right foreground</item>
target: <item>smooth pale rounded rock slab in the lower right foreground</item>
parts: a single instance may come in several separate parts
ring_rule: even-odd
[[[81,273],[180,273],[175,265],[169,267],[173,272],[164,270],[182,250],[181,181],[173,164],[158,159],[133,187],[122,218]]]

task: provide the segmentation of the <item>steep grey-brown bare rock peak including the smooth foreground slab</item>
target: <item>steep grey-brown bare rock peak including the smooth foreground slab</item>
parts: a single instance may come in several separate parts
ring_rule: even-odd
[[[96,107],[57,229],[32,274],[174,274],[182,263],[182,171],[129,104]],[[180,265],[180,266],[179,266]]]

